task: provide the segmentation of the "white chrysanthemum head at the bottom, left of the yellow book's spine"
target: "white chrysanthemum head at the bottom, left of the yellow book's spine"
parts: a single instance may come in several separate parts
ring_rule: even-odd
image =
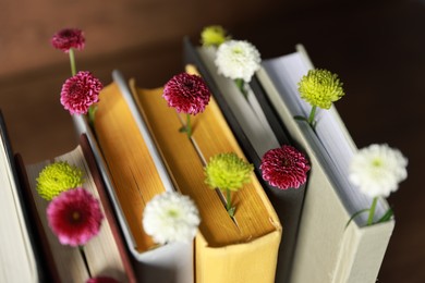
[[[143,212],[143,227],[158,244],[191,242],[199,222],[193,200],[178,193],[155,196]]]

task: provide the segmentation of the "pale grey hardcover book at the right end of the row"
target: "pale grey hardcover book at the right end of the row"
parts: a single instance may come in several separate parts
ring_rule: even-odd
[[[298,82],[313,67],[299,45],[293,53],[264,60],[256,74],[312,163],[290,282],[375,282],[394,220],[365,226],[366,216],[361,214],[345,229],[351,216],[371,207],[372,199],[348,181],[349,162],[357,149],[335,106],[317,111],[315,131],[294,119],[309,112]],[[375,218],[387,209],[380,200]]]

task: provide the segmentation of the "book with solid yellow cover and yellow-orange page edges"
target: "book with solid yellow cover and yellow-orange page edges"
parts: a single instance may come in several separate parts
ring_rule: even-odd
[[[179,133],[183,119],[167,106],[162,88],[142,89],[131,82],[131,89],[175,186],[199,209],[196,282],[275,282],[282,227],[255,174],[232,196],[234,221],[205,184],[204,167],[211,156],[235,152],[245,159],[214,98],[205,112],[192,116],[190,140]]]

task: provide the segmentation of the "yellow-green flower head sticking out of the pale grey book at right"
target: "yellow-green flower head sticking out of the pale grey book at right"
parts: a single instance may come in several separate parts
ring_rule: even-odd
[[[338,75],[320,69],[309,70],[301,78],[299,91],[302,99],[321,109],[329,109],[332,102],[344,95]]]

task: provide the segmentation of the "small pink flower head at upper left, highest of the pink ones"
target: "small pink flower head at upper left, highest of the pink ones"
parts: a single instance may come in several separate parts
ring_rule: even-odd
[[[56,33],[50,40],[56,49],[68,53],[71,48],[84,49],[85,38],[83,32],[77,28],[64,28]]]

